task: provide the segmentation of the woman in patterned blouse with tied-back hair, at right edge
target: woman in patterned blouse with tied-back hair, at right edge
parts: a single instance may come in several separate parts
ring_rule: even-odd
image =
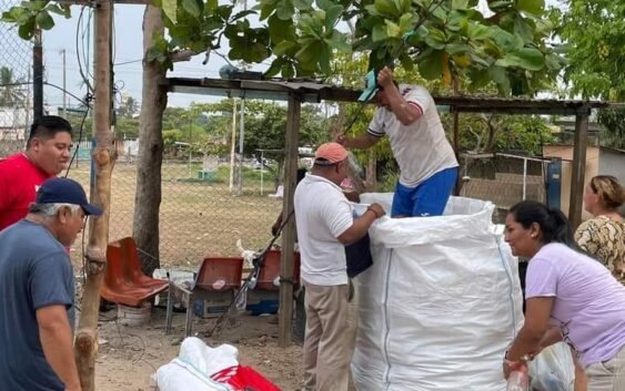
[[[584,191],[584,207],[594,218],[579,225],[575,240],[625,284],[625,222],[618,213],[625,188],[614,176],[597,175]]]

